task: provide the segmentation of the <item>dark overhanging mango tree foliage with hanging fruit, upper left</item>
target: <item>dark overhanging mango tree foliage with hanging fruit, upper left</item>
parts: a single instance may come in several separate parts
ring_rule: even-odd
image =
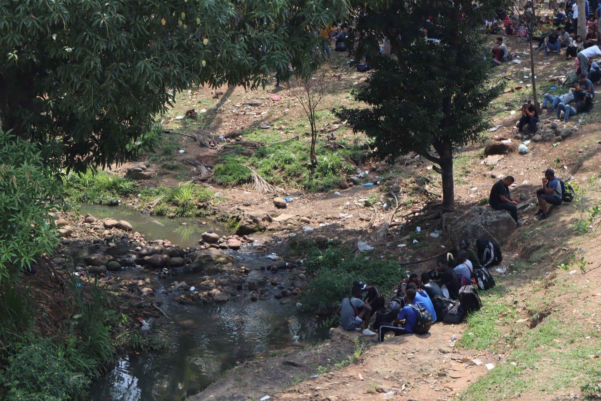
[[[123,162],[189,85],[257,87],[311,70],[341,0],[0,2],[2,129],[76,171]],[[49,159],[52,158],[52,159]]]

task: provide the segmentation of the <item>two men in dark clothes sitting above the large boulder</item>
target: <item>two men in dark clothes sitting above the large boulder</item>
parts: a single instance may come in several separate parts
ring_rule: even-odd
[[[544,220],[549,216],[549,204],[560,205],[563,202],[563,193],[560,180],[555,177],[555,171],[548,168],[543,171],[545,177],[542,179],[542,186],[538,188],[534,195],[540,206],[535,215],[540,216],[539,220]],[[511,217],[516,221],[517,227],[522,227],[524,222],[517,217],[517,200],[511,199],[509,187],[514,179],[507,176],[498,180],[490,189],[489,204],[496,210],[507,210]]]

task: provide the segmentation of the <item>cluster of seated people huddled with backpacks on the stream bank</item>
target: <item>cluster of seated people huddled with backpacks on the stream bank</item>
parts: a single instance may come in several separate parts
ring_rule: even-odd
[[[384,308],[384,297],[376,286],[367,286],[355,280],[351,296],[344,298],[336,310],[340,314],[340,326],[348,331],[361,331],[363,335],[378,335],[379,342],[384,340],[387,332],[394,332],[395,335],[413,333],[418,311],[412,305],[425,308],[432,315],[433,322],[442,320],[442,316],[436,316],[432,299],[436,296],[457,299],[460,288],[472,283],[476,266],[487,268],[501,261],[501,248],[494,240],[477,239],[475,245],[468,239],[460,240],[456,259],[448,254],[446,258],[437,260],[436,268],[432,271],[419,276],[412,273],[398,284],[396,299],[401,299],[404,305],[391,322],[377,323],[377,332],[370,330],[370,319],[376,311]]]

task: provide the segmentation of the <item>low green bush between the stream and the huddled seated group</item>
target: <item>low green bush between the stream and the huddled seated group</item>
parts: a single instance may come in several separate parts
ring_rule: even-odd
[[[355,259],[348,249],[313,249],[307,257],[307,274],[315,275],[308,291],[302,295],[305,310],[331,313],[340,301],[350,296],[353,281],[375,285],[380,292],[406,277],[398,262],[359,256]]]

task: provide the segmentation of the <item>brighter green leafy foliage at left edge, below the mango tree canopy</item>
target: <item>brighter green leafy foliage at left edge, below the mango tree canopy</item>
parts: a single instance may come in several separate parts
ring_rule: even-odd
[[[49,213],[56,182],[34,144],[0,130],[0,281],[50,253],[58,240]]]

